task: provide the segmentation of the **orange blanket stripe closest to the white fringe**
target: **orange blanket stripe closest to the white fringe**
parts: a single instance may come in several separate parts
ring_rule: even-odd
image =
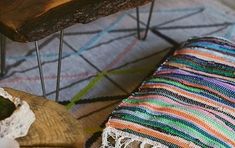
[[[118,121],[118,120],[111,119],[107,123],[107,126],[122,129],[122,130],[123,129],[131,129],[131,130],[136,131],[138,133],[143,133],[143,134],[146,134],[146,135],[150,135],[152,137],[155,137],[157,139],[162,139],[164,141],[167,141],[169,143],[173,143],[173,144],[178,145],[180,147],[189,147],[189,142],[185,141],[182,138],[166,135],[164,133],[146,128],[146,127],[141,126],[141,125],[137,125],[135,123],[130,123],[130,122],[127,122],[127,121],[125,121],[125,123],[124,123],[123,121]]]

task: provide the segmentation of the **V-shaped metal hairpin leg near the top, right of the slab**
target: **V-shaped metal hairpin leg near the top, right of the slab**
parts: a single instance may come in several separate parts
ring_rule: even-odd
[[[136,8],[136,18],[137,18],[137,34],[138,34],[138,39],[139,40],[146,40],[147,36],[148,36],[148,32],[150,29],[150,23],[151,23],[151,19],[152,19],[152,14],[153,14],[153,8],[154,8],[154,4],[155,4],[155,0],[153,0],[151,2],[151,6],[150,6],[150,12],[149,12],[149,17],[148,17],[148,22],[146,25],[146,29],[145,29],[145,33],[144,36],[141,38],[141,29],[140,29],[140,18],[139,18],[139,8]]]

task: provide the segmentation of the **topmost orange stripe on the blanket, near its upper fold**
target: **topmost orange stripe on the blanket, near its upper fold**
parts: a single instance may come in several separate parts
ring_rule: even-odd
[[[199,50],[192,50],[192,49],[181,49],[181,50],[178,50],[174,53],[174,55],[177,55],[177,54],[192,54],[193,56],[195,55],[198,55],[198,56],[201,56],[201,57],[204,57],[204,58],[210,58],[214,61],[220,61],[224,64],[227,64],[227,65],[230,65],[230,66],[233,66],[234,67],[234,64],[231,63],[230,61],[228,61],[227,59],[225,58],[222,58],[222,57],[219,57],[219,56],[216,56],[216,55],[213,55],[213,54],[209,54],[209,53],[206,53],[206,52],[202,52],[202,51],[199,51]]]

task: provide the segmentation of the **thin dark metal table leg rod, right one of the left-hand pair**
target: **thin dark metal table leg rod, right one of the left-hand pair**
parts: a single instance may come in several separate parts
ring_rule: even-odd
[[[60,45],[59,45],[56,97],[55,97],[56,102],[59,101],[59,95],[60,95],[60,74],[61,74],[61,62],[62,62],[62,53],[63,53],[63,38],[64,38],[64,30],[60,31]]]

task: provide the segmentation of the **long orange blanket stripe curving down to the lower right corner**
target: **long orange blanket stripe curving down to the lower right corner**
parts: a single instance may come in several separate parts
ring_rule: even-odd
[[[128,103],[122,103],[121,106],[136,106],[135,104],[128,104]],[[179,110],[173,109],[173,108],[167,108],[167,107],[162,107],[162,106],[157,106],[157,105],[152,105],[149,103],[139,103],[138,106],[141,107],[147,107],[149,109],[152,109],[154,111],[162,112],[162,113],[167,113],[167,114],[173,114],[180,116],[184,118],[185,120],[189,120],[192,123],[197,123],[198,126],[201,126],[204,128],[205,131],[209,131],[212,134],[216,135],[216,137],[223,139],[224,141],[231,143],[233,147],[235,147],[235,142],[228,139],[226,136],[222,135],[221,133],[217,132],[216,130],[212,129],[210,126],[208,126],[204,121],[201,121],[200,119],[196,118],[195,116],[192,116],[190,114],[186,114],[184,112],[181,112]]]

